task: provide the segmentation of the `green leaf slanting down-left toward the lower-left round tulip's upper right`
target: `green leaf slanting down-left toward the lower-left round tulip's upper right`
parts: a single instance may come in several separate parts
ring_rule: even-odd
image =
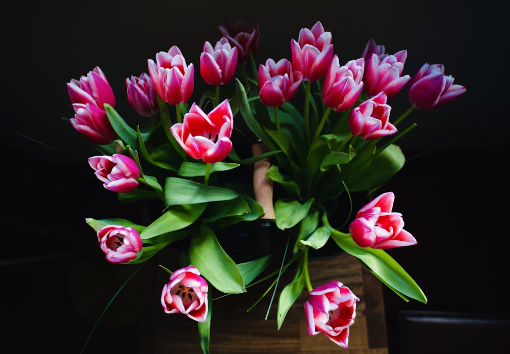
[[[184,229],[184,227],[191,225],[198,219],[206,206],[206,203],[171,206],[163,215],[148,225],[140,234],[140,237],[142,240],[146,240]]]

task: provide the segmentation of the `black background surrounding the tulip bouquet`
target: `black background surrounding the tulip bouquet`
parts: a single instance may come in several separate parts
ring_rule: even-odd
[[[215,43],[219,24],[237,19],[260,25],[258,64],[269,57],[290,59],[291,38],[320,20],[333,34],[341,63],[359,58],[372,37],[389,54],[407,49],[404,74],[413,76],[425,62],[443,63],[445,73],[467,87],[449,104],[406,118],[418,127],[399,141],[404,153],[410,158],[427,154],[407,161],[385,186],[395,192],[394,211],[403,214],[405,229],[418,240],[390,254],[429,299],[427,305],[404,302],[385,289],[390,354],[398,352],[402,311],[508,319],[503,291],[508,278],[508,188],[503,172],[510,128],[508,5],[493,0],[149,0],[30,1],[10,8],[0,24],[1,353],[77,352],[102,309],[97,304],[105,304],[121,285],[119,279],[132,270],[105,264],[84,219],[113,213],[135,220],[140,206],[119,206],[115,195],[93,178],[86,161],[95,151],[61,119],[73,116],[65,84],[100,66],[116,94],[117,111],[134,122],[125,78],[147,71],[147,59],[177,45],[195,65],[197,99],[205,87],[198,70],[203,42]],[[389,103],[394,117],[408,107],[403,92]],[[140,304],[142,290],[132,290],[123,296],[138,306],[131,316],[110,318],[113,327],[115,321],[130,323],[147,306]],[[159,291],[150,301],[159,301]],[[75,321],[83,327],[69,326]]]

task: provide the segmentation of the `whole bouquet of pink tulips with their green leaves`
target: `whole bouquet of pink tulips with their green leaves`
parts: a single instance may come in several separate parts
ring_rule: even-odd
[[[385,251],[419,241],[403,229],[405,215],[392,210],[398,196],[382,192],[358,206],[350,194],[381,188],[402,168],[405,157],[395,142],[416,126],[402,127],[413,109],[439,107],[466,89],[453,85],[442,64],[427,63],[411,78],[404,68],[407,52],[388,55],[372,38],[364,50],[360,45],[359,58],[340,60],[333,35],[319,21],[296,35],[289,39],[290,59],[258,60],[258,26],[224,22],[216,45],[205,42],[199,60],[202,79],[215,90],[196,100],[190,58],[176,46],[158,52],[156,61],[147,60],[148,73],[126,75],[128,102],[144,122],[137,127],[115,110],[113,90],[99,67],[67,84],[75,111],[70,124],[100,151],[88,161],[98,186],[117,193],[122,203],[147,199],[161,210],[145,225],[122,217],[87,218],[99,248],[109,262],[137,264],[186,241],[187,261],[180,269],[161,265],[170,274],[162,284],[161,305],[168,314],[198,322],[204,353],[213,315],[208,293],[249,291],[274,257],[285,254],[291,257],[276,262],[275,281],[296,260],[300,275],[280,292],[277,327],[307,291],[303,316],[309,334],[324,333],[347,348],[360,299],[341,280],[314,287],[307,269],[309,250],[328,240],[404,300],[427,301]],[[408,81],[410,88],[403,89]],[[392,97],[406,93],[410,108],[402,113],[392,107]],[[238,121],[246,127],[240,135],[245,146],[262,147],[262,154],[241,154],[234,137]],[[253,191],[255,181],[227,184],[211,178],[237,176],[239,166],[259,162],[268,166],[263,180],[274,186],[269,207],[255,197],[260,195]],[[338,215],[330,207],[336,203],[346,203],[352,215]],[[288,234],[287,248],[236,263],[217,235],[235,223],[264,218],[268,208],[278,229]],[[343,224],[336,224],[339,220]]]

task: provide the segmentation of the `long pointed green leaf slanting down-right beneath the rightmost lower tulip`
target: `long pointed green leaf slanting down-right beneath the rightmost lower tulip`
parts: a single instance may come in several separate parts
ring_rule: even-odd
[[[360,247],[349,234],[337,230],[331,232],[331,238],[348,254],[358,258],[378,279],[395,291],[404,300],[404,296],[426,304],[427,298],[420,287],[407,272],[382,249]]]

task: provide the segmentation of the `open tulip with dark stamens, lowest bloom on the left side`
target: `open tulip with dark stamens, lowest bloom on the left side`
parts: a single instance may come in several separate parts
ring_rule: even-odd
[[[209,286],[197,268],[177,269],[161,292],[161,305],[166,313],[182,313],[205,322],[207,318],[207,291]]]

